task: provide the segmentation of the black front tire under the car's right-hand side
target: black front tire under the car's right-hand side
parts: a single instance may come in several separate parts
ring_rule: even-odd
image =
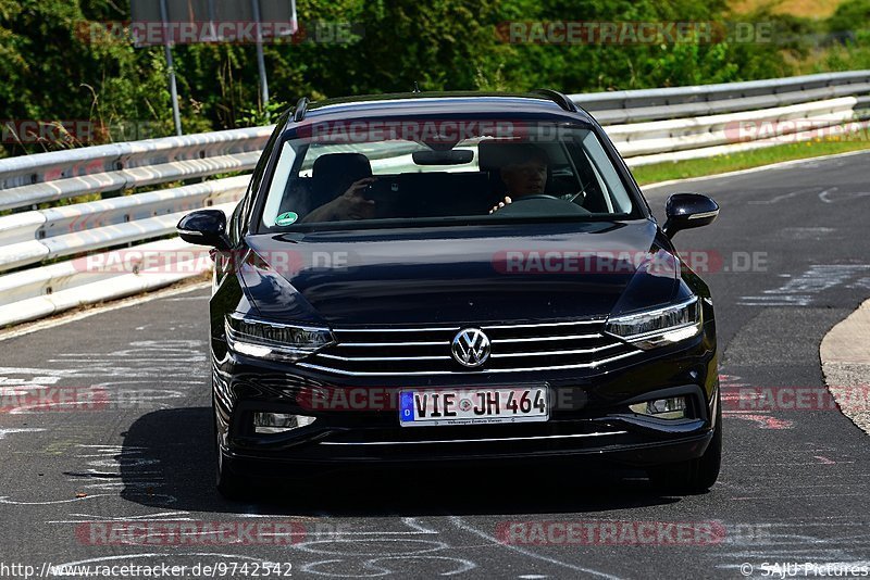
[[[661,491],[704,493],[719,479],[722,465],[722,401],[717,400],[716,427],[707,451],[697,459],[662,465],[649,470],[649,480]]]

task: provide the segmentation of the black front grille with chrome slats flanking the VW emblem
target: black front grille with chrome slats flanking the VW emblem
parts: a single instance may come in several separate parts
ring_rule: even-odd
[[[604,333],[604,320],[481,326],[489,360],[465,368],[450,354],[462,328],[339,328],[336,343],[298,366],[341,376],[474,375],[597,368],[641,351]]]

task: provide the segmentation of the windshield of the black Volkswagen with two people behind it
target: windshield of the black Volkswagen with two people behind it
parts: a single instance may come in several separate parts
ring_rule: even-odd
[[[635,202],[583,125],[309,124],[286,134],[260,229],[626,218]]]

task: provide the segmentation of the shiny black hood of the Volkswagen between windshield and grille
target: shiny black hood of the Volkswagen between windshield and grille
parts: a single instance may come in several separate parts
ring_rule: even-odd
[[[253,235],[258,314],[340,325],[605,317],[667,303],[679,267],[651,220]]]

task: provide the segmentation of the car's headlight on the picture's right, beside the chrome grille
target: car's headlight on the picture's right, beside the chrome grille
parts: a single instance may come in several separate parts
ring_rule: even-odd
[[[655,310],[611,316],[605,330],[641,349],[655,349],[698,336],[700,311],[698,297],[692,297]]]

